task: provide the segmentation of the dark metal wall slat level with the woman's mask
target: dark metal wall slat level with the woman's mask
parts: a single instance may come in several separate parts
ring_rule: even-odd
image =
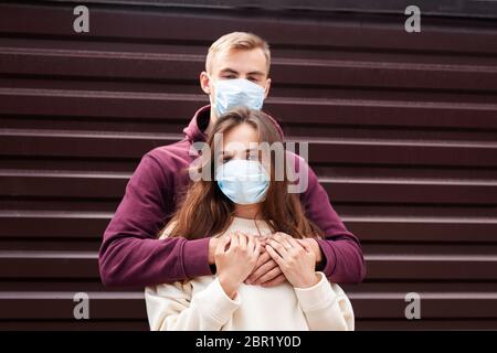
[[[127,173],[3,170],[0,195],[99,197],[117,202],[129,176]],[[497,204],[497,182],[493,181],[324,178],[320,183],[334,202]]]

